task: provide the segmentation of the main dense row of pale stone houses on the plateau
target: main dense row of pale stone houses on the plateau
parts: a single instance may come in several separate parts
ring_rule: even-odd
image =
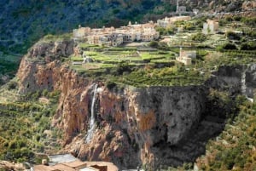
[[[90,44],[119,46],[122,43],[130,43],[134,41],[150,42],[158,39],[160,33],[155,31],[155,24],[150,21],[146,24],[134,24],[129,22],[128,26],[121,26],[119,28],[103,27],[90,29],[90,27],[79,27],[73,30],[73,37],[84,39]]]

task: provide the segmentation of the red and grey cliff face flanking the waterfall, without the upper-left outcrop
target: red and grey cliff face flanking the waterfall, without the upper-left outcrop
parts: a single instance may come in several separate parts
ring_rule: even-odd
[[[99,83],[94,106],[97,128],[85,144],[92,87],[70,89],[73,94],[61,96],[63,107],[55,116],[56,121],[61,118],[55,123],[64,128],[66,150],[84,160],[113,161],[122,167],[136,167],[141,162],[154,165],[155,159],[166,153],[161,145],[171,148],[187,137],[205,109],[205,88],[125,88],[113,92]]]

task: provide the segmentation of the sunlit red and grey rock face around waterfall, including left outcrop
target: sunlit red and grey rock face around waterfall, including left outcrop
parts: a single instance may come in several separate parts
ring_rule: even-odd
[[[114,162],[120,168],[136,168],[139,164],[155,168],[166,152],[166,149],[161,150],[160,144],[177,145],[189,134],[190,128],[199,123],[205,109],[204,88],[127,87],[108,90],[104,83],[97,82],[96,128],[92,140],[86,144],[92,85],[96,82],[90,77],[79,77],[68,66],[62,66],[58,57],[50,57],[58,54],[55,52],[58,48],[51,46],[56,45],[32,48],[21,61],[17,77],[20,93],[45,88],[61,91],[52,120],[52,125],[63,131],[61,151],[71,152],[84,160]],[[43,53],[42,49],[46,52]],[[67,55],[67,51],[59,53]],[[46,54],[43,62],[38,60],[42,54]]]

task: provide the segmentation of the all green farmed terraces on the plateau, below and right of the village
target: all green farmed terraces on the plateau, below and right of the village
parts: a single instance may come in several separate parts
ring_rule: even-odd
[[[219,66],[256,62],[253,22],[224,18],[218,20],[217,33],[203,34],[202,24],[206,21],[207,17],[201,17],[177,22],[170,28],[156,28],[160,31],[160,40],[135,43],[134,46],[105,47],[79,43],[82,53],[71,56],[69,64],[83,76],[148,87],[198,85],[204,83]],[[237,24],[241,26],[237,27]],[[178,31],[177,28],[183,29]],[[196,59],[192,60],[191,66],[183,66],[175,60],[179,47],[196,51]],[[90,62],[83,63],[82,54]]]

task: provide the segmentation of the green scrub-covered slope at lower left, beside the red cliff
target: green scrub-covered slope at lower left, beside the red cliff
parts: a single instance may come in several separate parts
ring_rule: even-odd
[[[44,95],[49,103],[40,102]],[[55,151],[60,132],[50,125],[59,92],[26,94],[17,102],[0,102],[0,160],[37,162],[37,152]]]

